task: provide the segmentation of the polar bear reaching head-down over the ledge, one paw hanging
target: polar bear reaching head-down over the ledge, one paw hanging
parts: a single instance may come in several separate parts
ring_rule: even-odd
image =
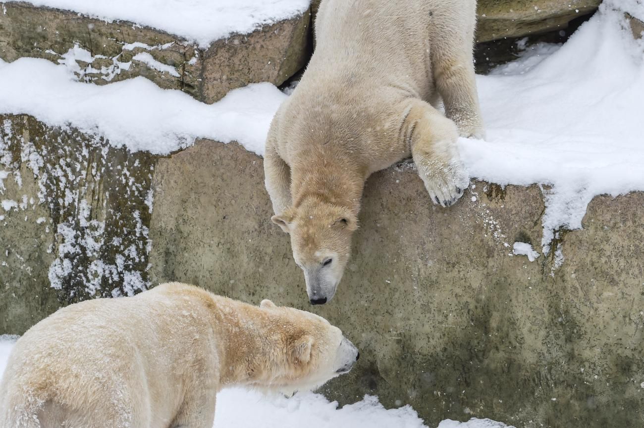
[[[336,292],[366,178],[413,157],[446,207],[468,174],[457,138],[482,138],[475,0],[323,0],[307,70],[270,125],[265,185],[312,304]],[[436,109],[442,97],[445,115]]]

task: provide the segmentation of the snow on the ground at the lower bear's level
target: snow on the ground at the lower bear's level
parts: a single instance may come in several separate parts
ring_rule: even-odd
[[[0,377],[14,346],[15,336],[0,335]],[[314,393],[298,393],[291,398],[265,396],[242,388],[225,389],[217,395],[214,427],[217,428],[426,428],[418,414],[406,405],[387,410],[375,396],[338,409]],[[444,420],[438,428],[514,428],[489,419],[468,422]]]

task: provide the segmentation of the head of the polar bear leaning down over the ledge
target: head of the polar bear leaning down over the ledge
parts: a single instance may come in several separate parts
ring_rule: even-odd
[[[290,234],[293,259],[304,271],[311,304],[330,301],[351,256],[355,214],[346,207],[307,201],[272,221]]]

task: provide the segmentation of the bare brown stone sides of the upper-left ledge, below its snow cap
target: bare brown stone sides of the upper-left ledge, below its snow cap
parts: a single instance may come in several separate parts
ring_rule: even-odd
[[[5,3],[0,14],[0,58],[40,57],[53,62],[76,44],[90,51],[91,63],[79,61],[79,78],[106,84],[144,76],[161,88],[181,89],[212,103],[228,91],[253,82],[279,85],[301,69],[310,54],[310,13],[265,26],[247,35],[233,35],[201,50],[180,37],[119,21],[106,23],[26,3]],[[147,47],[125,49],[134,42]],[[155,70],[139,60],[147,52],[175,75]]]

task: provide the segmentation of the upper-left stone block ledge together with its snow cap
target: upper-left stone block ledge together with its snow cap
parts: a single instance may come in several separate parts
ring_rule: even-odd
[[[212,103],[289,79],[310,55],[309,25],[308,0],[8,1],[0,59],[48,59],[96,84],[143,76]]]

